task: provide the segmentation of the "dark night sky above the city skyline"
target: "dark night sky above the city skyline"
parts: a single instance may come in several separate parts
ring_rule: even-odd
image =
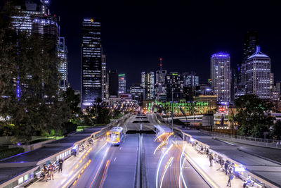
[[[102,22],[107,71],[125,73],[127,89],[141,82],[141,71],[195,71],[200,82],[210,75],[209,58],[228,52],[234,68],[242,60],[247,30],[259,32],[261,51],[271,58],[275,80],[281,68],[281,2],[277,1],[69,1],[51,0],[51,13],[60,15],[60,34],[69,51],[69,80],[80,89],[81,21]]]

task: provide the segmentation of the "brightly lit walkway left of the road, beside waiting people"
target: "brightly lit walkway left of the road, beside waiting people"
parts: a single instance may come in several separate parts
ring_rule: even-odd
[[[81,158],[84,156],[84,153],[86,153],[86,150],[80,152],[79,155],[77,155],[76,157],[71,156],[70,158],[67,158],[67,160],[65,160],[63,162],[63,172],[58,173],[58,171],[56,171],[53,174],[54,180],[48,180],[46,182],[45,178],[40,179],[40,180],[37,180],[37,182],[34,182],[33,184],[31,184],[29,187],[31,187],[31,188],[33,188],[33,187],[34,188],[36,188],[36,187],[40,187],[40,188],[62,187],[62,184],[65,181],[68,181],[70,179],[70,171],[75,167],[75,165],[77,165],[77,163],[79,163]]]

